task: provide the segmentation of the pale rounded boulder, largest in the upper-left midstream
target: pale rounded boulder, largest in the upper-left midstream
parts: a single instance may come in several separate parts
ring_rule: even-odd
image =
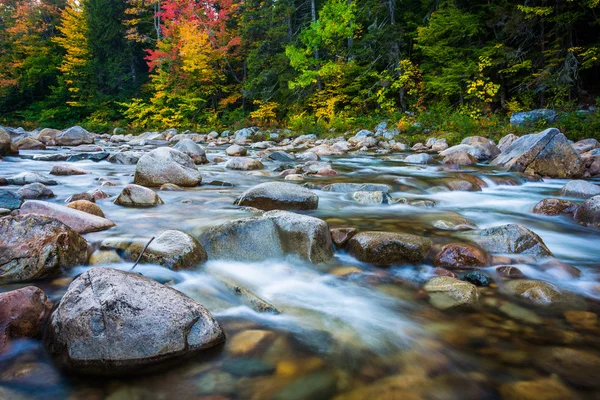
[[[158,186],[174,183],[178,186],[197,186],[202,182],[194,160],[187,154],[169,147],[161,147],[144,154],[137,163],[133,183]]]

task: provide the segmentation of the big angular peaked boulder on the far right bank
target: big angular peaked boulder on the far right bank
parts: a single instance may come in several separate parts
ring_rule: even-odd
[[[521,136],[491,164],[510,171],[551,178],[579,177],[584,169],[579,154],[556,128]]]

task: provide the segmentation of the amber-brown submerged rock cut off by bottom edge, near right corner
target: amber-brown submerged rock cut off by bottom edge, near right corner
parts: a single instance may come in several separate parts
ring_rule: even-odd
[[[555,377],[504,383],[500,394],[504,400],[575,400],[579,397]]]

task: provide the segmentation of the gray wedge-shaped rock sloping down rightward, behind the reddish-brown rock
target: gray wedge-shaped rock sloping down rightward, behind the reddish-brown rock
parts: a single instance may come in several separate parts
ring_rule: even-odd
[[[509,224],[461,233],[488,253],[552,257],[542,238],[521,225]]]

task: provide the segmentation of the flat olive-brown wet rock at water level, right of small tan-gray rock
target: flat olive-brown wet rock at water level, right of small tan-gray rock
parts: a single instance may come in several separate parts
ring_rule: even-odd
[[[505,294],[541,307],[552,307],[553,309],[563,307],[580,308],[585,304],[573,293],[559,289],[545,281],[513,279],[506,281],[501,290]]]

